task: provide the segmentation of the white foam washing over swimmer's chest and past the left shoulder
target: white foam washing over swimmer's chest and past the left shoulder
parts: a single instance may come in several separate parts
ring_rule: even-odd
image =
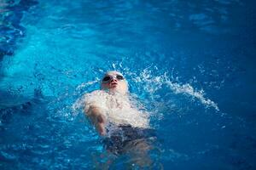
[[[87,105],[97,105],[109,122],[115,124],[130,124],[133,127],[148,127],[148,114],[141,111],[130,96],[122,94],[108,94],[102,90],[84,94],[72,105],[73,115],[76,116],[82,109],[87,110]],[[87,108],[87,109],[86,109]],[[121,113],[121,114],[120,114]]]

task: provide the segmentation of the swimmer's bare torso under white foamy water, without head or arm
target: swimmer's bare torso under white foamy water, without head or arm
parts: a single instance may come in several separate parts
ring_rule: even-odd
[[[87,102],[94,102],[102,109],[102,114],[106,116],[108,122],[117,125],[131,125],[132,127],[149,127],[148,115],[131,105],[129,95],[109,94],[108,92],[97,90],[87,97]]]

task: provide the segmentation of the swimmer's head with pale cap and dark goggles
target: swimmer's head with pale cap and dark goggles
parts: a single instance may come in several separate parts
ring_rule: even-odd
[[[108,71],[102,77],[101,88],[109,90],[110,92],[119,92],[120,94],[127,94],[128,84],[125,77],[118,71]]]

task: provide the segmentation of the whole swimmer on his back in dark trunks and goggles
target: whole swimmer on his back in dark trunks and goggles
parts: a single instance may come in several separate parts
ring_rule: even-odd
[[[101,81],[101,90],[85,95],[84,112],[105,139],[107,150],[113,154],[130,153],[137,156],[137,164],[150,161],[148,115],[132,105],[128,83],[118,71],[108,71]]]

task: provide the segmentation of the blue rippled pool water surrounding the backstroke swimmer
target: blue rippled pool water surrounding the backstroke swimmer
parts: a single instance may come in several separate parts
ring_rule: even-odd
[[[255,169],[255,8],[249,0],[1,1],[0,168],[103,166],[108,153],[79,99],[118,70],[150,113],[153,169]]]

